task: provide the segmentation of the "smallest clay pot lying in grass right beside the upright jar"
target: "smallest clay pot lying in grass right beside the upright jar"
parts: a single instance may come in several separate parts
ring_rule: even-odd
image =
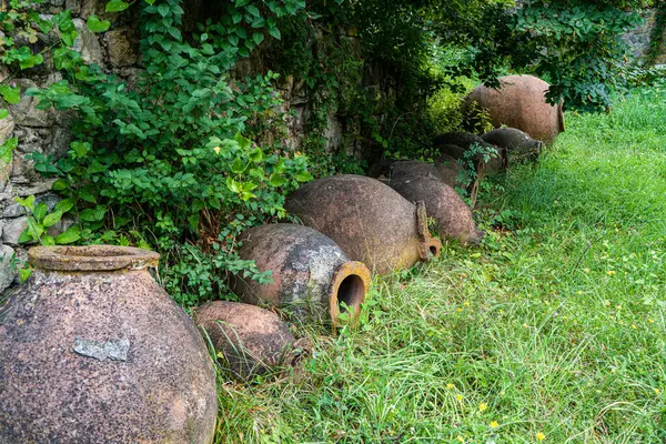
[[[195,309],[193,317],[229,370],[243,380],[299,366],[310,352],[309,342],[294,340],[280,316],[255,305],[214,301]]]

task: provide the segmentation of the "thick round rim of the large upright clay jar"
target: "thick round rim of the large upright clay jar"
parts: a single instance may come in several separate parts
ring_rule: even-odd
[[[56,271],[142,270],[158,266],[160,254],[133,246],[34,246],[28,262],[34,268]]]

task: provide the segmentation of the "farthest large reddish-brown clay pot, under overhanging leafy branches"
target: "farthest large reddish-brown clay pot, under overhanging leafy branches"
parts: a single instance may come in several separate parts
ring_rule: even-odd
[[[552,143],[564,132],[562,102],[546,103],[548,83],[533,75],[506,75],[498,80],[497,90],[477,87],[465,99],[466,105],[475,101],[488,110],[495,128],[517,128],[544,143]]]

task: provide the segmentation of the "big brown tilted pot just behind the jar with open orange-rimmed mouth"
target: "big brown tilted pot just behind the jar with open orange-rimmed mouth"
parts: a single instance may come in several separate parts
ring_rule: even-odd
[[[438,256],[442,248],[430,236],[423,204],[415,205],[362,175],[306,183],[287,196],[285,208],[379,274],[410,268],[431,254]]]

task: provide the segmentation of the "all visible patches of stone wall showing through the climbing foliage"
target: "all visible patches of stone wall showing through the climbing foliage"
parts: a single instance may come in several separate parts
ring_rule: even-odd
[[[56,13],[69,9],[79,37],[74,48],[88,63],[97,63],[105,71],[113,73],[130,84],[141,71],[141,56],[139,52],[139,32],[137,8],[130,8],[122,13],[107,13],[104,8],[108,0],[47,0],[40,6],[42,18],[50,18]],[[0,0],[2,4],[2,0]],[[201,0],[190,0],[185,4],[189,16],[200,19],[205,11]],[[103,33],[92,33],[85,26],[85,20],[91,14],[100,20],[112,21],[111,28]],[[192,27],[192,20],[185,21],[185,27]],[[58,38],[58,36],[54,36]],[[44,48],[53,36],[40,36],[38,44]],[[355,39],[343,36],[341,38]],[[27,44],[27,42],[26,42]],[[317,44],[313,41],[313,44]],[[357,46],[356,46],[357,47]],[[256,74],[262,71],[261,63],[254,59],[240,62],[235,75]],[[47,87],[62,79],[53,70],[53,61],[48,59],[43,64],[22,71],[23,78],[9,79],[13,85],[19,85],[22,91],[31,87]],[[0,64],[0,82],[8,80],[9,72]],[[282,142],[296,150],[305,133],[307,120],[313,112],[313,98],[305,82],[289,75],[278,84],[284,103],[281,110],[286,123],[285,140]],[[22,262],[27,256],[29,245],[19,244],[19,236],[27,228],[27,216],[22,208],[16,203],[16,198],[36,195],[36,203],[44,202],[52,210],[58,202],[57,195],[51,191],[54,179],[47,179],[34,171],[32,162],[26,159],[27,154],[38,151],[54,159],[67,154],[71,142],[71,117],[64,112],[51,109],[41,111],[36,109],[36,101],[30,97],[22,97],[21,102],[8,105],[0,98],[0,108],[7,108],[10,115],[0,120],[0,144],[7,139],[16,137],[18,148],[13,152],[10,165],[0,164],[0,292],[12,283],[18,283],[18,270],[12,262]],[[326,149],[336,151],[343,149],[349,154],[354,153],[354,140],[343,138],[343,125],[334,112],[329,115],[327,128],[324,130],[327,140]],[[270,142],[270,141],[266,141]],[[343,147],[344,145],[344,147]],[[1,168],[4,167],[4,168]],[[69,222],[71,224],[71,222]],[[69,226],[64,221],[53,226],[49,234],[57,235]]]

